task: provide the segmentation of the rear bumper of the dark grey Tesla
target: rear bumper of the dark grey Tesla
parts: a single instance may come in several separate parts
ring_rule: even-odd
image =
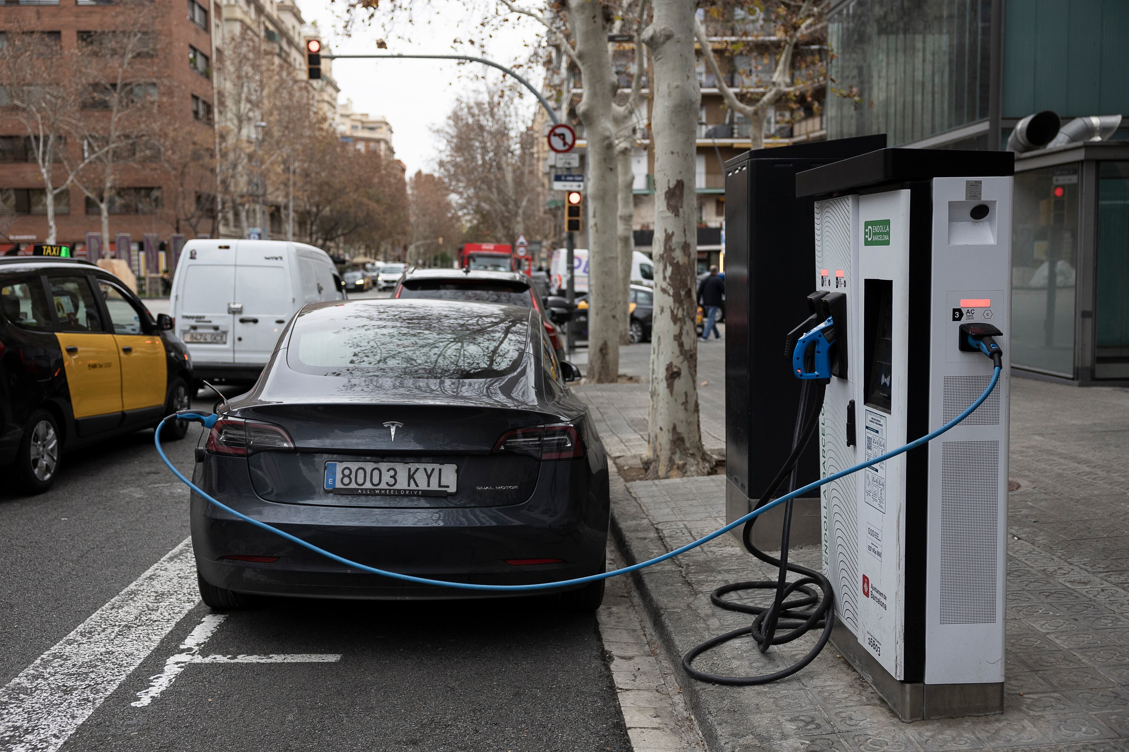
[[[499,507],[358,508],[266,502],[251,488],[244,460],[216,455],[196,466],[194,480],[244,514],[367,566],[431,580],[519,585],[603,570],[609,523],[606,466],[587,475],[584,488],[567,483],[567,477],[576,474],[552,470],[550,467],[541,474],[526,502]],[[217,476],[221,483],[212,480]],[[222,489],[219,494],[217,486]],[[239,593],[380,600],[531,594],[417,585],[360,573],[234,517],[195,494],[191,517],[201,575],[212,585]],[[230,555],[278,560],[261,564],[222,558]],[[532,558],[562,561],[506,564],[506,559]]]

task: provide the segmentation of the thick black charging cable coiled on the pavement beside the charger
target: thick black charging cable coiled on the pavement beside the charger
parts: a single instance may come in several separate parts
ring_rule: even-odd
[[[770,483],[768,488],[764,489],[764,494],[761,496],[761,499],[756,505],[758,507],[769,503],[778,496],[780,486],[785,483],[785,480],[789,480],[789,490],[796,487],[796,462],[799,459],[799,455],[803,454],[804,449],[812,440],[812,436],[815,434],[815,430],[820,424],[820,410],[823,409],[823,396],[825,390],[826,383],[823,381],[804,381],[800,392],[799,409],[796,412],[796,427],[793,434],[791,453],[785,461],[784,467],[780,468],[780,471],[772,479],[772,483]],[[749,582],[735,582],[728,585],[723,585],[710,594],[710,601],[712,601],[715,605],[726,609],[727,611],[751,613],[754,614],[755,618],[749,627],[742,627],[741,629],[734,629],[733,631],[727,631],[724,635],[718,635],[717,637],[708,639],[701,645],[692,648],[689,653],[682,656],[682,667],[685,669],[686,673],[694,679],[711,682],[714,684],[767,684],[768,682],[790,676],[809,664],[815,660],[815,656],[820,654],[823,647],[828,644],[828,640],[831,638],[831,630],[834,627],[835,621],[834,591],[831,590],[831,582],[828,581],[828,578],[820,572],[802,567],[798,564],[788,563],[788,538],[791,531],[791,511],[793,503],[789,501],[784,506],[784,532],[780,540],[780,558],[769,556],[753,546],[753,525],[760,517],[753,517],[745,523],[741,536],[741,540],[744,542],[745,549],[761,561],[778,567],[780,574],[776,581],[755,580]],[[788,582],[789,572],[799,575],[799,578]],[[819,592],[816,589],[819,589]],[[727,601],[723,598],[728,593],[745,590],[772,590],[776,591],[776,593],[772,599],[772,603],[768,607],[747,605],[745,603]],[[789,600],[789,598],[791,600]],[[790,643],[803,637],[809,630],[819,629],[821,627],[823,628],[823,634],[820,635],[815,646],[808,651],[807,655],[787,669],[782,669],[770,674],[762,674],[759,676],[721,676],[699,671],[691,665],[693,660],[706,651],[717,647],[723,643],[728,643],[729,640],[741,637],[742,635],[751,635],[760,647],[761,653],[764,653],[772,645],[784,645],[785,643]],[[778,630],[786,631],[778,634]]]

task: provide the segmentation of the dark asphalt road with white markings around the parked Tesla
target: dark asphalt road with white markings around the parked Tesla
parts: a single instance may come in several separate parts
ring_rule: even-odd
[[[185,474],[198,431],[166,446]],[[0,750],[631,749],[594,614],[270,600],[220,617],[187,536],[151,431],[65,455],[46,494],[0,484]]]

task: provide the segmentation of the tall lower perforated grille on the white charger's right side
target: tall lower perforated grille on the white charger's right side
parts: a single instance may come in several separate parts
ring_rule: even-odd
[[[940,623],[996,623],[999,442],[944,442],[940,488]]]

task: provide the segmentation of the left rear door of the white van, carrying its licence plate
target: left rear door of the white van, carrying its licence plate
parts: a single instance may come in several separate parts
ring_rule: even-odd
[[[235,249],[190,245],[181,258],[177,276],[184,278],[174,303],[181,339],[196,363],[231,363],[235,317],[228,306],[235,301]]]

